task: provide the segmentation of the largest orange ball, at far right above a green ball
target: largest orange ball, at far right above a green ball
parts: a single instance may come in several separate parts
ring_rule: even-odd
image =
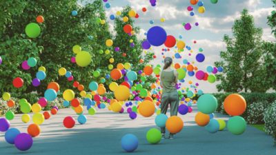
[[[224,110],[230,116],[239,116],[246,111],[246,100],[242,95],[230,94],[224,100]]]

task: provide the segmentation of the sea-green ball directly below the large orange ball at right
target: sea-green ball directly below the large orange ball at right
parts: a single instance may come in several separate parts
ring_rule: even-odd
[[[232,134],[242,134],[246,130],[246,121],[241,116],[233,116],[227,122],[227,129]]]

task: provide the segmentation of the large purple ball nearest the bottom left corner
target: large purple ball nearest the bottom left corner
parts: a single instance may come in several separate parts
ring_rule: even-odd
[[[21,151],[26,151],[32,147],[32,136],[30,134],[21,133],[15,138],[14,145]]]

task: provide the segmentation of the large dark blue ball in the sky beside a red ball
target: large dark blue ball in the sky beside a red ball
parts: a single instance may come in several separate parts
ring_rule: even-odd
[[[165,43],[167,39],[167,33],[164,28],[161,28],[160,26],[154,26],[148,30],[147,39],[151,45],[160,46]]]

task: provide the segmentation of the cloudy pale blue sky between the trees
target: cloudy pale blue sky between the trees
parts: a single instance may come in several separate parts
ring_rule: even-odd
[[[93,0],[87,1],[89,3]],[[181,35],[181,40],[193,49],[193,53],[188,56],[188,51],[181,52],[182,58],[174,59],[175,63],[182,63],[183,59],[187,59],[190,62],[195,61],[198,49],[203,48],[203,54],[206,56],[205,61],[202,63],[195,61],[194,63],[199,70],[206,70],[209,65],[214,66],[214,62],[220,59],[219,52],[226,50],[226,45],[223,42],[224,34],[231,36],[233,23],[235,19],[240,17],[240,12],[244,8],[248,9],[248,12],[253,15],[255,25],[263,29],[262,39],[275,41],[266,19],[273,10],[271,0],[219,0],[216,4],[210,3],[210,0],[201,1],[204,2],[206,11],[204,14],[199,14],[197,12],[198,6],[194,6],[195,15],[193,17],[190,16],[190,12],[187,10],[187,7],[191,6],[189,0],[157,0],[155,7],[150,5],[149,0],[108,0],[107,3],[110,3],[111,7],[105,9],[107,17],[110,17],[110,14],[116,14],[117,11],[122,10],[127,5],[135,10],[139,14],[139,18],[135,19],[135,26],[141,28],[138,34],[141,40],[146,39],[145,32],[155,25],[161,26],[166,30],[167,34],[173,35],[176,39],[179,39]],[[146,12],[141,11],[144,7],[147,8]],[[165,22],[161,22],[161,18],[164,18]],[[150,24],[150,20],[155,22]],[[199,26],[195,26],[196,22],[199,23]],[[107,23],[110,24],[112,31],[113,21],[108,18]],[[193,28],[187,31],[182,23],[191,23]],[[197,43],[193,43],[194,41],[197,41]],[[151,48],[150,51],[155,52],[157,56],[157,59],[154,59],[151,64],[162,65],[162,48],[165,48],[165,46]],[[174,55],[174,50],[175,48],[172,48],[170,52],[164,52],[164,55],[172,56]],[[207,81],[198,81],[195,76],[186,76],[184,85],[188,86],[188,81],[199,83],[198,88],[204,92],[217,92],[215,85],[218,82],[208,83]]]

